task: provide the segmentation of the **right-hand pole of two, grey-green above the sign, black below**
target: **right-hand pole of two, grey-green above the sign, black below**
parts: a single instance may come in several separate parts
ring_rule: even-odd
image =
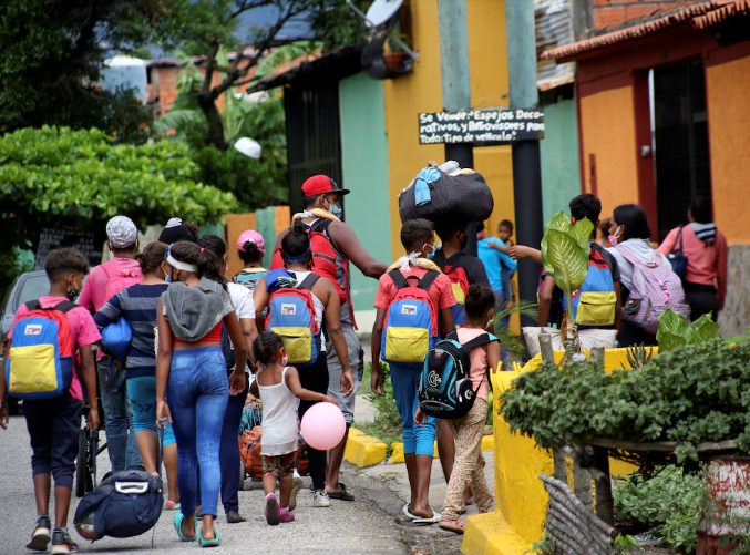
[[[532,0],[505,0],[505,37],[511,106],[535,107],[540,102],[536,88],[536,30]],[[513,196],[518,245],[538,248],[542,243],[542,168],[538,141],[513,143]],[[518,296],[536,302],[540,265],[531,259],[518,260]],[[522,326],[536,326],[530,318]]]

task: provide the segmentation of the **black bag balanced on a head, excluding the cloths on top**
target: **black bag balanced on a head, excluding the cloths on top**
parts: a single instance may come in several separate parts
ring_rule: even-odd
[[[481,174],[448,175],[440,172],[440,179],[430,183],[430,202],[417,206],[415,183],[399,196],[401,222],[425,218],[440,224],[451,222],[484,222],[492,215],[495,203],[492,192]]]

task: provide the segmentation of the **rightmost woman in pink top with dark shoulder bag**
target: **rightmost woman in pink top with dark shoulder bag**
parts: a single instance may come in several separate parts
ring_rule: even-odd
[[[658,250],[665,256],[681,251],[688,258],[682,286],[690,305],[690,319],[696,321],[711,314],[716,320],[727,297],[727,238],[711,223],[708,197],[692,199],[688,219],[689,225],[669,232]]]

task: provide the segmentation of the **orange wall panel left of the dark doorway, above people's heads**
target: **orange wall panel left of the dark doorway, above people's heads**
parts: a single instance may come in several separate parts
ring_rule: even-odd
[[[620,204],[638,204],[638,172],[633,88],[623,86],[581,99],[581,134],[586,192],[592,193],[589,154],[596,155],[596,195],[602,218]]]

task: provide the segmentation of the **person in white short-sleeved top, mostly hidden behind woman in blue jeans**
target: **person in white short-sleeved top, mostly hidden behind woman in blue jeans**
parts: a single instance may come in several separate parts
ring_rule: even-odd
[[[227,249],[224,239],[216,235],[204,235],[198,240],[198,246],[202,249],[210,250],[219,260],[224,261],[224,267],[227,265]],[[250,291],[239,284],[227,282],[229,298],[232,305],[235,307],[237,318],[239,318],[239,327],[243,331],[243,337],[247,343],[249,353],[253,341],[258,336],[258,328],[255,325],[255,305],[253,304],[253,295]],[[251,366],[253,358],[250,356]],[[232,370],[228,370],[232,372]],[[248,386],[236,394],[229,395],[227,409],[224,414],[224,423],[222,424],[222,442],[219,444],[219,466],[222,469],[222,504],[224,505],[224,513],[226,514],[229,524],[245,522],[247,518],[239,514],[239,442],[237,441],[237,430],[239,430],[239,422],[243,418],[243,409],[245,408],[245,400],[247,399],[247,391],[249,380],[245,380]],[[201,500],[198,491],[198,502]]]

